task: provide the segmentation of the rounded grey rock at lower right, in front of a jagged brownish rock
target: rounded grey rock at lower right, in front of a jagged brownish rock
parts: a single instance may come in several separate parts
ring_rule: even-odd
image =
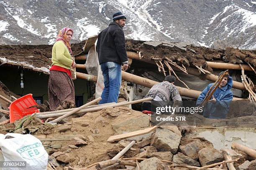
[[[198,152],[198,158],[202,166],[223,161],[222,152],[213,147],[206,147]]]

